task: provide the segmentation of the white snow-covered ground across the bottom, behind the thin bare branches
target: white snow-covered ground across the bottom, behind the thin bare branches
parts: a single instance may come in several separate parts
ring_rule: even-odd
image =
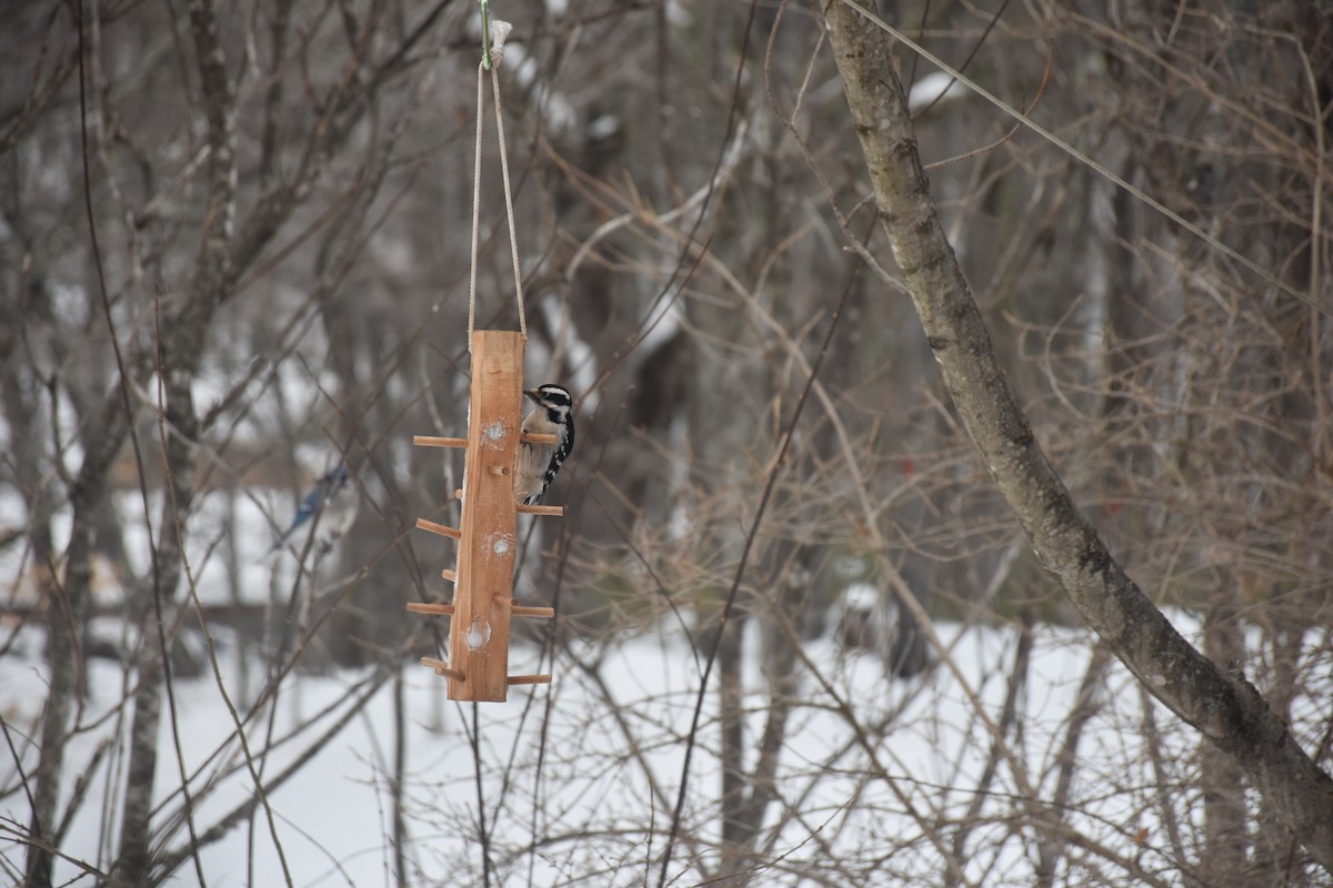
[[[976,694],[989,718],[998,719],[1016,642],[1016,635],[1002,628],[941,628],[953,638],[953,658],[968,691],[942,667],[924,682],[892,682],[873,658],[841,652],[830,642],[806,646],[809,659],[793,700],[777,800],[766,819],[776,825],[765,853],[774,868],[761,884],[816,884],[793,873],[802,867],[829,869],[829,855],[842,861],[838,867],[848,873],[845,884],[902,884],[938,871],[937,843],[952,841],[952,824],[972,803],[969,788],[990,750],[988,730],[968,694]],[[11,742],[31,768],[45,670],[37,651],[40,639],[35,632],[25,635],[23,651],[0,660],[0,707]],[[754,651],[758,642],[752,640],[749,650]],[[1030,879],[1028,849],[1009,836],[1005,819],[1022,809],[1025,793],[1049,796],[1052,791],[1062,727],[1089,650],[1080,632],[1040,634],[1020,699],[1022,730],[1018,736],[1009,735],[1025,766],[1024,780],[1030,783],[1021,785],[1013,771],[1001,766],[990,787],[993,799],[973,812],[980,825],[969,840],[968,869],[984,884]],[[404,664],[404,849],[413,884],[483,884],[479,796],[492,884],[628,885],[643,884],[645,873],[652,873],[649,880],[656,884],[681,784],[700,664],[685,640],[669,630],[589,650],[577,659],[584,664],[596,659],[600,667],[587,670],[569,656],[557,658],[552,686],[516,690],[508,703],[476,710],[445,702],[444,680],[431,670]],[[533,650],[517,650],[515,660],[516,671],[540,667]],[[233,651],[221,650],[219,663],[221,684],[233,684]],[[753,706],[749,738],[757,755],[757,736],[768,716],[761,656],[750,660],[748,671],[752,692],[746,702]],[[80,718],[87,730],[69,746],[71,775],[81,774],[108,739],[128,731],[124,712],[113,708],[124,694],[121,670],[93,662],[91,679],[89,704]],[[175,824],[164,841],[168,853],[189,845],[188,829],[179,821],[181,796],[173,792],[183,770],[191,775],[192,795],[201,799],[193,820],[196,835],[204,835],[252,796],[251,767],[271,784],[293,760],[313,755],[268,793],[272,820],[261,808],[201,848],[197,867],[204,880],[208,885],[279,885],[285,884],[285,869],[295,885],[395,884],[392,674],[288,676],[276,707],[247,724],[251,767],[236,742],[235,720],[217,678],[180,680],[175,690],[176,736],[169,726],[164,728],[157,777],[163,807],[155,820]],[[360,706],[363,698],[367,702]],[[1150,783],[1141,772],[1146,756],[1138,750],[1133,723],[1140,718],[1136,687],[1114,668],[1100,698],[1122,706],[1104,707],[1086,736],[1081,781],[1090,783],[1076,791],[1070,823],[1112,851],[1138,857],[1148,869],[1169,872],[1169,855],[1158,837],[1136,841],[1142,828],[1156,827],[1141,804],[1142,793],[1113,793],[1092,785],[1102,779],[1130,787]],[[712,843],[717,839],[720,766],[714,714],[710,694],[689,771],[688,837],[677,841],[669,867],[672,876],[680,877],[676,884],[696,884],[701,871],[693,860],[705,867],[716,863]],[[1170,722],[1160,710],[1156,715],[1160,723]],[[344,719],[345,726],[329,734]],[[469,735],[477,726],[475,754]],[[273,742],[261,759],[269,730]],[[119,796],[107,788],[120,774],[108,770],[108,762],[120,759],[104,756],[95,768],[89,783],[93,801],[83,807],[61,843],[67,855],[97,867],[105,867],[115,853],[104,836],[115,833],[105,824],[116,821],[111,800]],[[27,803],[23,792],[15,791],[12,762],[0,768],[0,777],[7,789],[0,816],[8,829],[25,823]],[[65,797],[72,792],[69,784],[72,780],[64,787]],[[0,844],[0,849],[9,867],[21,867],[19,845]],[[69,861],[60,864],[59,876],[69,884],[93,881],[80,877]],[[181,885],[197,881],[191,860],[172,879]]]

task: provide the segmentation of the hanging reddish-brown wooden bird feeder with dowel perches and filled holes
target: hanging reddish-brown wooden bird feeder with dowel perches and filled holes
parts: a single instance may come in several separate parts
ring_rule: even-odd
[[[520,506],[513,483],[523,427],[523,357],[528,339],[512,330],[472,333],[472,401],[467,438],[416,435],[423,447],[464,447],[463,522],[459,529],[425,518],[417,527],[459,541],[453,603],[411,602],[415,614],[449,618],[449,660],[424,656],[421,663],[449,682],[451,700],[507,698],[511,684],[547,684],[549,675],[509,675],[509,618],[556,615],[551,607],[513,602],[519,514],[564,515],[561,506]],[[532,443],[555,443],[555,435],[523,435]]]

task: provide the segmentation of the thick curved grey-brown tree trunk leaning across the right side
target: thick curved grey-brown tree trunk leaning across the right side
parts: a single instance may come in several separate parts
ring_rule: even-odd
[[[1242,678],[1190,646],[1125,575],[1074,506],[998,366],[930,198],[892,39],[825,0],[834,59],[885,232],[944,383],[1040,562],[1149,691],[1237,762],[1306,851],[1333,872],[1333,779]]]

